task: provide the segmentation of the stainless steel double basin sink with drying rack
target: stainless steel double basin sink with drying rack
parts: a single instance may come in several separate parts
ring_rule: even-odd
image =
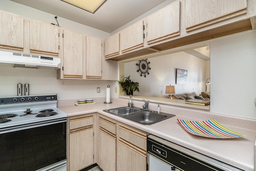
[[[162,120],[166,120],[168,118],[172,118],[174,114],[167,114],[167,113],[157,113],[151,110],[144,110],[139,108],[130,108],[130,107],[121,107],[121,108],[114,108],[103,110],[110,114],[115,114],[117,116],[126,118],[128,120],[132,120],[134,122],[143,124],[143,125],[151,125]]]

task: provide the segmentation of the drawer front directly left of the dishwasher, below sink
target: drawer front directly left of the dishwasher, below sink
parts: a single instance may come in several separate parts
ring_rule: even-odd
[[[128,126],[119,124],[118,135],[120,138],[140,147],[144,150],[147,149],[147,134],[130,128]]]

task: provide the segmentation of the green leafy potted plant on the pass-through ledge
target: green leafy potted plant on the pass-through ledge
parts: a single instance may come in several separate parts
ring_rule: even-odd
[[[138,82],[134,82],[130,79],[130,75],[128,77],[124,77],[123,81],[117,81],[118,84],[120,84],[123,88],[123,91],[127,94],[133,95],[134,91],[138,91],[140,92],[139,89],[139,83]]]

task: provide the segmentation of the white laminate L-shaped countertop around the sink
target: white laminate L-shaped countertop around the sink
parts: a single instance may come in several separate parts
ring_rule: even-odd
[[[212,157],[214,159],[217,159],[239,169],[245,171],[254,171],[254,142],[256,138],[256,130],[225,125],[222,122],[220,122],[220,124],[226,126],[230,130],[242,134],[248,134],[248,136],[232,139],[204,138],[186,132],[178,124],[178,121],[176,119],[179,118],[184,120],[196,121],[205,120],[207,116],[198,117],[191,115],[191,117],[188,117],[190,115],[186,113],[186,110],[184,114],[180,112],[179,114],[176,114],[176,116],[173,118],[149,126],[138,124],[136,122],[103,111],[104,109],[118,108],[123,106],[127,106],[127,103],[123,103],[122,100],[118,100],[117,102],[113,102],[112,104],[96,102],[96,104],[76,106],[73,103],[66,106],[58,106],[58,108],[64,111],[66,114],[68,114],[68,117],[79,114],[98,112],[114,120],[123,122],[124,124],[128,124],[140,130],[146,131],[150,134],[153,134],[170,142],[176,143],[188,149],[192,149],[198,153],[202,153],[204,155],[207,155],[208,157]],[[212,115],[210,115],[207,120],[210,119],[216,118],[212,118]],[[219,122],[219,120],[217,121]],[[252,124],[253,122],[248,121],[248,123]]]

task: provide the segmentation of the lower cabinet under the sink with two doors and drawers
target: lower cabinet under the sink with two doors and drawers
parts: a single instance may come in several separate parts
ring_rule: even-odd
[[[98,114],[97,163],[104,171],[146,171],[148,133]]]

